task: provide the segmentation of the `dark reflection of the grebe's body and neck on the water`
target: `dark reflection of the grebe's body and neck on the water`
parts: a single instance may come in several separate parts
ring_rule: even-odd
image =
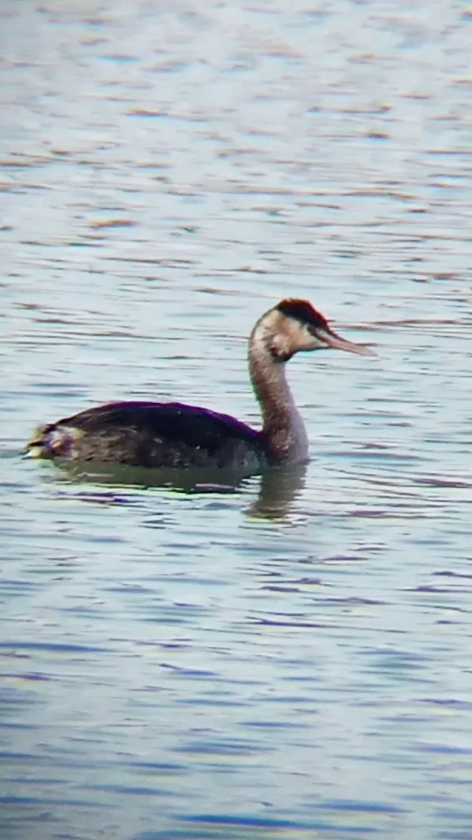
[[[283,519],[305,487],[307,465],[275,467],[260,476],[240,470],[149,470],[144,467],[109,464],[58,463],[62,478],[74,484],[109,486],[108,491],[80,494],[83,501],[123,504],[120,488],[163,489],[186,495],[240,495],[257,487],[257,496],[245,512],[251,517]],[[113,490],[112,490],[113,488]]]

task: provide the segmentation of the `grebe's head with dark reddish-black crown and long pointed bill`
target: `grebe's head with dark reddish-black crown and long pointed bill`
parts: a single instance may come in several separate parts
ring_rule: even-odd
[[[295,297],[286,298],[265,312],[254,327],[251,342],[262,344],[278,362],[288,361],[300,350],[328,347],[361,356],[375,355],[364,344],[343,339],[331,329],[326,318],[311,303]]]

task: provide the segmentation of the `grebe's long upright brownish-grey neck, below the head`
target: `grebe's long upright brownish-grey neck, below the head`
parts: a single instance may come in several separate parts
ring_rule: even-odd
[[[262,412],[262,435],[275,462],[307,460],[308,439],[291,390],[286,365],[275,360],[256,324],[249,338],[249,375]]]

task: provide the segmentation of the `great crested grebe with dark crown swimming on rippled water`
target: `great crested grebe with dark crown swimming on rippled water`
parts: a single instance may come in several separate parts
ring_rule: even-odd
[[[40,426],[26,451],[34,458],[254,473],[301,463],[307,460],[307,433],[286,381],[286,362],[300,350],[328,347],[375,355],[334,333],[311,303],[283,300],[262,315],[249,337],[260,431],[227,414],[180,402],[110,402]]]

